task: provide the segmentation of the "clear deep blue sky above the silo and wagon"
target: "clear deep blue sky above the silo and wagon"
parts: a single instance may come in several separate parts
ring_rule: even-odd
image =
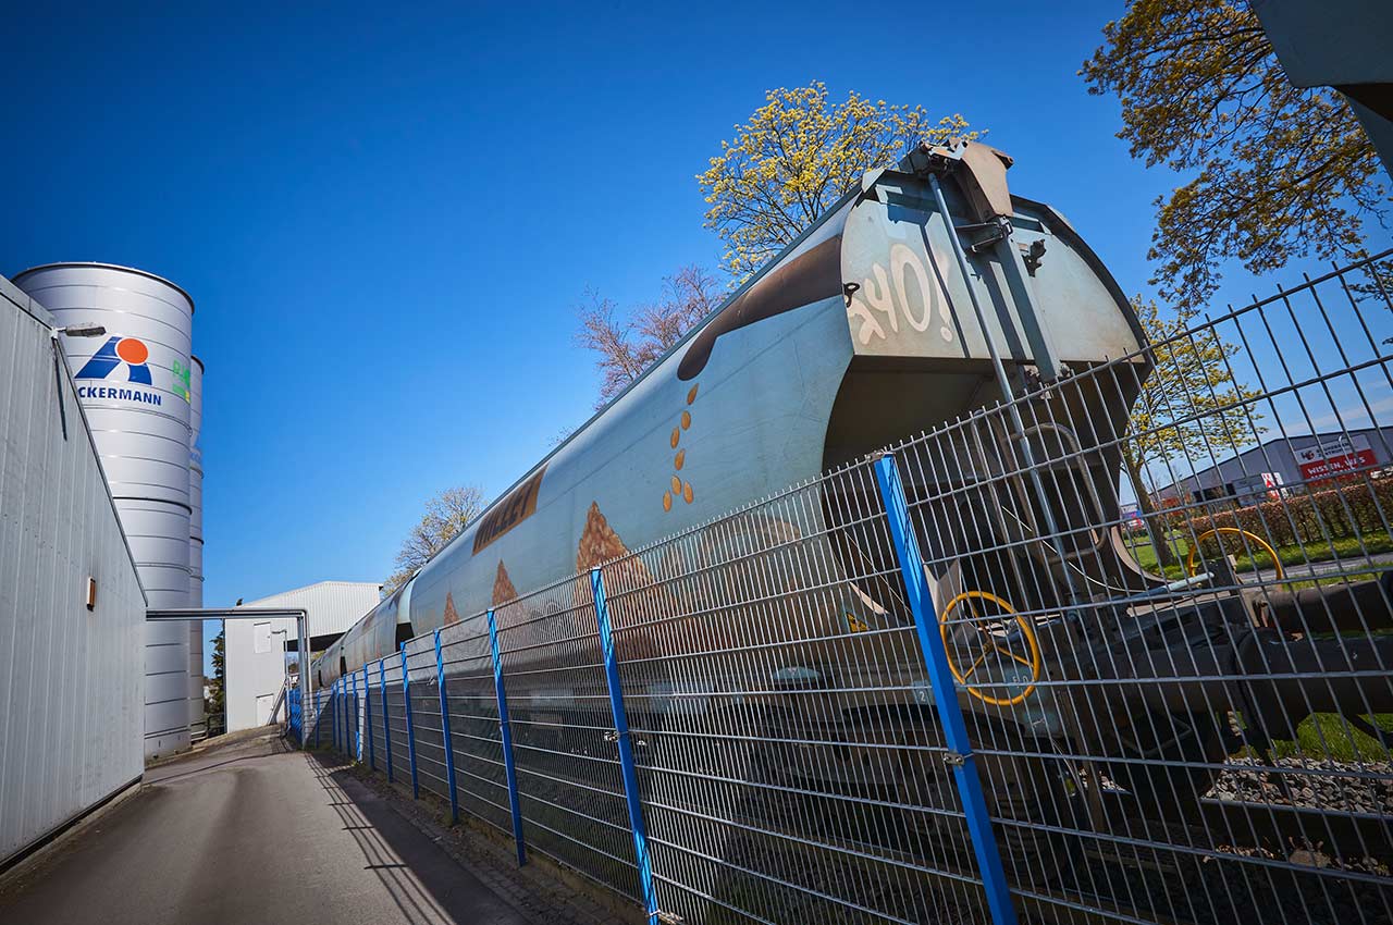
[[[11,11],[0,272],[92,259],[194,295],[208,605],[380,580],[426,497],[492,496],[589,415],[586,287],[715,266],[694,176],[768,88],[963,113],[1144,290],[1176,180],[1075,75],[1120,8]]]

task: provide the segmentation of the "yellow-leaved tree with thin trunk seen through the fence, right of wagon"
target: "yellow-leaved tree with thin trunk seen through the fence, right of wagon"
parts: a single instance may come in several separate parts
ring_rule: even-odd
[[[1153,300],[1144,302],[1141,295],[1133,297],[1131,305],[1151,341],[1155,365],[1133,405],[1121,444],[1123,465],[1158,561],[1174,566],[1176,552],[1166,541],[1149,486],[1172,485],[1197,468],[1197,461],[1255,442],[1263,428],[1250,400],[1261,393],[1234,380],[1227,358],[1236,347],[1223,343],[1213,329],[1191,330],[1198,309],[1163,316]],[[1159,476],[1149,472],[1152,467],[1159,467]]]

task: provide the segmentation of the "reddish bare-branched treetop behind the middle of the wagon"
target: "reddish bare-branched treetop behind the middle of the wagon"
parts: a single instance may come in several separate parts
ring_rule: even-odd
[[[581,327],[575,343],[599,354],[595,366],[600,371],[600,394],[595,407],[603,407],[642,376],[692,325],[713,312],[723,295],[715,277],[695,265],[664,277],[656,302],[624,316],[612,300],[588,291],[586,304],[577,309]]]

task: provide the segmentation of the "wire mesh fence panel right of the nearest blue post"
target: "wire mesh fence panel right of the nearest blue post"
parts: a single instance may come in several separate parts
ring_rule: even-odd
[[[1034,914],[1389,921],[1393,479],[1358,449],[1389,458],[1380,281],[1308,281],[896,449]],[[1277,486],[1282,454],[1323,465]]]

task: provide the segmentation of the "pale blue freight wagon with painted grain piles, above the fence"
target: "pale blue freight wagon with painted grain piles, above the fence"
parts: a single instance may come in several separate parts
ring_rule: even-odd
[[[355,624],[315,662],[316,683],[394,652],[401,635],[479,614],[996,401],[968,286],[1022,383],[1038,368],[1042,332],[1073,369],[1135,352],[1142,333],[1096,255],[1053,209],[1006,194],[1010,159],[965,149],[976,156],[954,159],[957,182],[942,185],[954,221],[974,221],[992,195],[1014,247],[974,255],[965,279],[926,182],[926,152],[918,167],[907,159],[868,174]]]

